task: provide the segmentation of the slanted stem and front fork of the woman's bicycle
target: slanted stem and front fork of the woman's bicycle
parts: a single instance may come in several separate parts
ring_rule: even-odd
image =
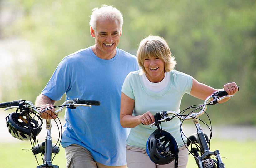
[[[200,124],[199,124],[199,120],[197,119],[195,113],[191,114],[193,116],[193,122],[197,128],[197,135],[198,135],[198,138],[199,138],[199,142],[200,142],[200,151],[201,151],[201,156],[199,156],[198,154],[198,151],[194,151],[194,154],[196,154],[195,156],[197,157],[197,164],[198,164],[198,167],[199,168],[204,168],[203,166],[203,160],[205,159],[210,159],[210,156],[215,156],[215,158],[217,159],[217,167],[218,168],[225,168],[225,165],[224,163],[222,162],[221,160],[221,157],[220,157],[220,152],[219,150],[216,150],[214,152],[211,152],[210,151],[210,148],[208,146],[208,142],[204,136],[204,132],[202,130],[202,128],[200,127]],[[214,160],[215,161],[215,160]]]

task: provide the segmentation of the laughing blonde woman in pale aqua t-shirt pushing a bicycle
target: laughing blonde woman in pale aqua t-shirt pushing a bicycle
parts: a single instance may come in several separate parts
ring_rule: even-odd
[[[120,124],[131,128],[126,140],[126,161],[128,168],[169,168],[174,161],[166,165],[156,165],[146,153],[146,142],[156,128],[148,125],[155,121],[154,115],[162,110],[180,112],[182,96],[187,93],[204,100],[214,91],[219,91],[198,82],[190,75],[174,70],[175,58],[171,55],[167,42],[159,36],[150,35],[140,42],[137,60],[142,69],[130,72],[126,77],[121,94]],[[224,85],[229,95],[235,94],[238,87],[235,82]],[[224,102],[224,101],[223,101]],[[185,168],[188,151],[180,134],[180,119],[162,123],[179,146],[179,168]],[[183,137],[185,139],[185,137]]]

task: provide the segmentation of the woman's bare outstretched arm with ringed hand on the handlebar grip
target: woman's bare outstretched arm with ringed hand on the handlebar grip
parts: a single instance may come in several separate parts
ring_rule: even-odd
[[[238,86],[236,85],[235,82],[232,83],[227,83],[224,85],[223,89],[229,94],[229,95],[234,95],[238,91]],[[194,96],[198,99],[205,100],[208,96],[213,94],[214,91],[220,91],[223,89],[214,89],[208,85],[205,85],[203,83],[198,82],[193,78],[193,85],[192,89],[190,91],[190,95]],[[221,101],[221,103],[227,101],[229,99],[224,99]]]

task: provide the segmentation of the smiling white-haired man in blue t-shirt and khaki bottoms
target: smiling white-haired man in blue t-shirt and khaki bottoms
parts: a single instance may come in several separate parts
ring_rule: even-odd
[[[130,71],[139,69],[135,56],[116,48],[122,32],[121,12],[112,6],[93,9],[90,21],[95,45],[66,56],[37,97],[36,106],[53,106],[66,93],[99,100],[100,106],[67,109],[61,144],[67,167],[126,167],[128,130],[120,125],[121,87]],[[42,118],[56,118],[46,113]]]

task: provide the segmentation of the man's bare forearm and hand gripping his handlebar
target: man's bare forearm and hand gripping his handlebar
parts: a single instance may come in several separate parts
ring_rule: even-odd
[[[52,107],[55,103],[55,100],[50,99],[49,97],[40,94],[37,96],[36,101],[35,101],[35,106],[36,107],[41,107],[41,110],[44,110],[46,108]],[[40,117],[43,119],[56,119],[57,114],[54,114],[55,109],[47,110],[46,113],[42,113]],[[48,114],[47,114],[48,113]]]

